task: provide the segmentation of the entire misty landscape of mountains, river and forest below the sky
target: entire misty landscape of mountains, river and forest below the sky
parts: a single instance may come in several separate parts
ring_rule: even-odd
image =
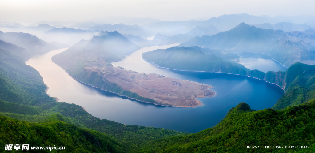
[[[314,23],[246,13],[134,22],[0,22],[0,147],[315,147]],[[260,151],[305,151],[277,149]]]

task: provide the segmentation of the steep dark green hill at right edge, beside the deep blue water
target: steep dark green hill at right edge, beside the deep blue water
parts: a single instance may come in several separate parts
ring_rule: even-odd
[[[267,72],[265,80],[285,89],[285,94],[272,107],[284,109],[315,99],[315,65],[296,62],[287,71]]]

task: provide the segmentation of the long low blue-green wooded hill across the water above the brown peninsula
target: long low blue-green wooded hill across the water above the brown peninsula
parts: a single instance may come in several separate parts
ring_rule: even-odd
[[[241,64],[228,61],[239,60],[236,54],[198,46],[175,46],[165,50],[153,50],[142,53],[142,58],[157,66],[176,70],[224,72],[242,75],[250,71]]]

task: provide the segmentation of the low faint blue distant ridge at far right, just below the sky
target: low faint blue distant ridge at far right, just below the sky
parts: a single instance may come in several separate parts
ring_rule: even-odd
[[[291,31],[305,31],[307,29],[312,29],[314,27],[307,25],[307,24],[294,24],[290,22],[280,22],[276,24],[254,24],[257,28],[262,29],[273,29],[273,30],[283,30],[284,32],[291,32]]]

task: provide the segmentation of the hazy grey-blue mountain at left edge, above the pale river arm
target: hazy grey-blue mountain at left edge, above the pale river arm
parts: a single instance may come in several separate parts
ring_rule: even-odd
[[[38,53],[48,52],[51,50],[57,50],[66,47],[66,45],[64,44],[59,43],[57,45],[53,45],[37,38],[36,36],[21,32],[3,33],[2,31],[0,31],[0,40],[25,48],[27,50],[27,58]],[[27,58],[25,58],[24,60],[26,60]]]

